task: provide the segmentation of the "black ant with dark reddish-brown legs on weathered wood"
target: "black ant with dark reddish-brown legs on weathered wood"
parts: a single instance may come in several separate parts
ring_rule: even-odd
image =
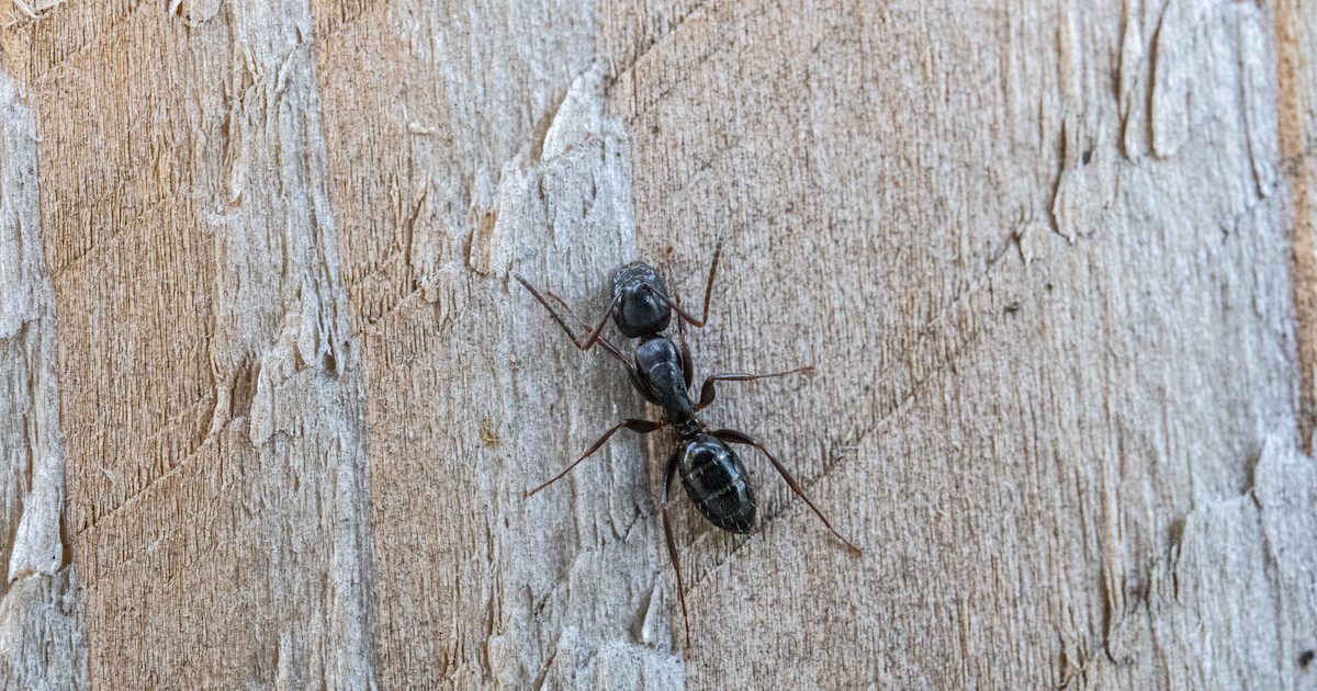
[[[627,419],[612,425],[562,473],[531,490],[527,492],[527,496],[532,496],[562,479],[578,463],[598,451],[608,441],[608,437],[612,437],[622,428],[640,434],[648,434],[662,426],[672,426],[676,432],[676,449],[664,467],[660,508],[662,509],[664,537],[668,541],[668,557],[672,559],[673,570],[677,573],[677,598],[681,600],[681,617],[686,625],[686,650],[690,650],[690,617],[686,613],[686,594],[681,582],[681,559],[677,557],[677,542],[672,537],[672,525],[668,519],[668,508],[672,504],[669,490],[676,474],[681,473],[681,484],[685,487],[686,495],[695,503],[695,508],[709,519],[709,523],[732,533],[748,533],[755,525],[755,492],[751,490],[749,474],[745,471],[745,466],[728,444],[740,444],[759,449],[777,473],[782,475],[782,479],[786,480],[792,491],[803,499],[819,520],[823,521],[823,525],[838,540],[846,544],[852,554],[860,554],[860,548],[852,545],[851,541],[842,537],[842,533],[832,528],[832,524],[823,516],[823,512],[805,495],[795,478],[792,476],[786,467],[763,444],[749,434],[734,429],[710,432],[697,417],[699,411],[714,403],[714,384],[718,382],[752,382],[755,379],[786,376],[797,372],[813,374],[814,371],[813,366],[805,366],[772,374],[715,374],[706,378],[703,386],[701,386],[699,403],[691,403],[690,386],[694,379],[694,371],[690,361],[690,350],[686,346],[685,326],[690,324],[691,326],[702,328],[709,321],[709,299],[714,288],[714,276],[718,274],[718,258],[722,255],[722,251],[723,242],[719,240],[714,247],[714,257],[709,267],[709,280],[705,283],[705,311],[699,319],[695,319],[681,308],[680,296],[669,297],[662,278],[658,276],[658,272],[652,266],[644,262],[631,262],[614,274],[612,300],[595,326],[590,326],[590,324],[577,317],[566,301],[554,295],[553,291],[545,291],[548,294],[548,297],[545,297],[545,295],[541,295],[540,291],[527,283],[525,279],[512,274],[512,278],[524,286],[525,290],[531,291],[531,295],[549,311],[553,321],[566,332],[568,338],[578,349],[590,350],[595,345],[599,345],[620,361],[627,369],[627,374],[631,376],[631,383],[636,387],[636,391],[649,403],[662,408],[664,417],[662,422]],[[590,334],[589,338],[585,341],[578,340],[572,326],[549,304],[551,299],[562,307],[583,333]],[[677,316],[677,333],[681,341],[680,349],[672,342],[672,338],[662,333],[668,329],[673,315]],[[622,354],[622,350],[603,336],[603,326],[608,322],[610,317],[623,336],[627,338],[639,338],[632,359],[627,359]]]

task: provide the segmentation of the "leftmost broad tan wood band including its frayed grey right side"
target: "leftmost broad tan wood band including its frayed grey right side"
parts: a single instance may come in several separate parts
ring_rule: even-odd
[[[361,361],[309,7],[161,9],[61,11],[7,46],[34,103],[78,113],[42,120],[38,158],[87,673],[360,688]]]

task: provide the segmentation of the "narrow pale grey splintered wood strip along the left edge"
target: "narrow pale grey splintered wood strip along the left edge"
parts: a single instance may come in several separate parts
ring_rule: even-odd
[[[37,130],[0,75],[0,687],[87,683],[76,570],[65,549],[55,311],[38,217]]]

